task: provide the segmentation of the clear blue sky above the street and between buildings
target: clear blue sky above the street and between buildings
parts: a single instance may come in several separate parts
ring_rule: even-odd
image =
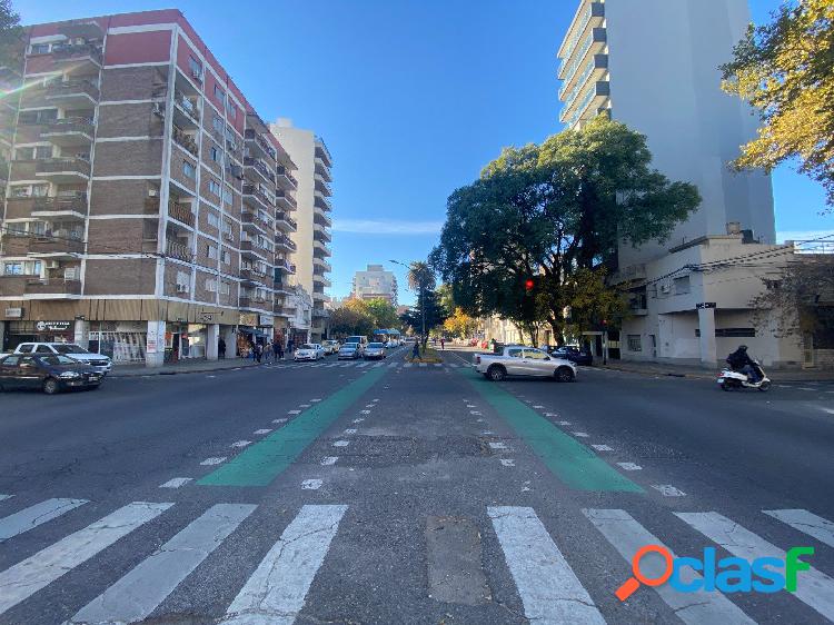
[[[778,0],[752,0],[754,21]],[[503,146],[557,132],[573,0],[13,0],[24,23],[176,7],[268,120],[334,155],[334,296],[368,262],[424,259],[446,198]],[[774,173],[781,232],[834,231],[824,195]],[[792,237],[797,237],[792,235]],[[788,237],[788,238],[792,238]],[[405,284],[403,269],[389,265]],[[413,295],[400,289],[400,299]]]

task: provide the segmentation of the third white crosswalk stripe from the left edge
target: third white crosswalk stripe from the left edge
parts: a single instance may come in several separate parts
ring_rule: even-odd
[[[70,623],[147,618],[257,506],[217,504],[81,608]]]

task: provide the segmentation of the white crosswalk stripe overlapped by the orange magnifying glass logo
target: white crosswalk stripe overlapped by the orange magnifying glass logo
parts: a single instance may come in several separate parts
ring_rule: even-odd
[[[625,510],[583,509],[583,514],[594,524],[608,543],[631,565],[635,554],[644,545],[666,547],[659,538],[651,534]],[[668,549],[668,547],[666,547]],[[677,557],[668,549],[672,557]],[[646,577],[658,578],[663,575],[666,563],[662,557],[653,555],[641,559],[641,571]],[[689,584],[702,576],[691,566],[679,567],[681,581]],[[698,591],[695,593],[679,593],[668,584],[655,587],[655,592],[675,614],[691,625],[702,623],[746,623],[755,625],[733,602],[718,592]]]

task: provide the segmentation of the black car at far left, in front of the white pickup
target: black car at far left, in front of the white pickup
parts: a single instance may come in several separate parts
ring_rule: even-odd
[[[47,395],[71,388],[98,388],[105,374],[61,354],[18,355],[0,358],[0,390],[40,388]]]

